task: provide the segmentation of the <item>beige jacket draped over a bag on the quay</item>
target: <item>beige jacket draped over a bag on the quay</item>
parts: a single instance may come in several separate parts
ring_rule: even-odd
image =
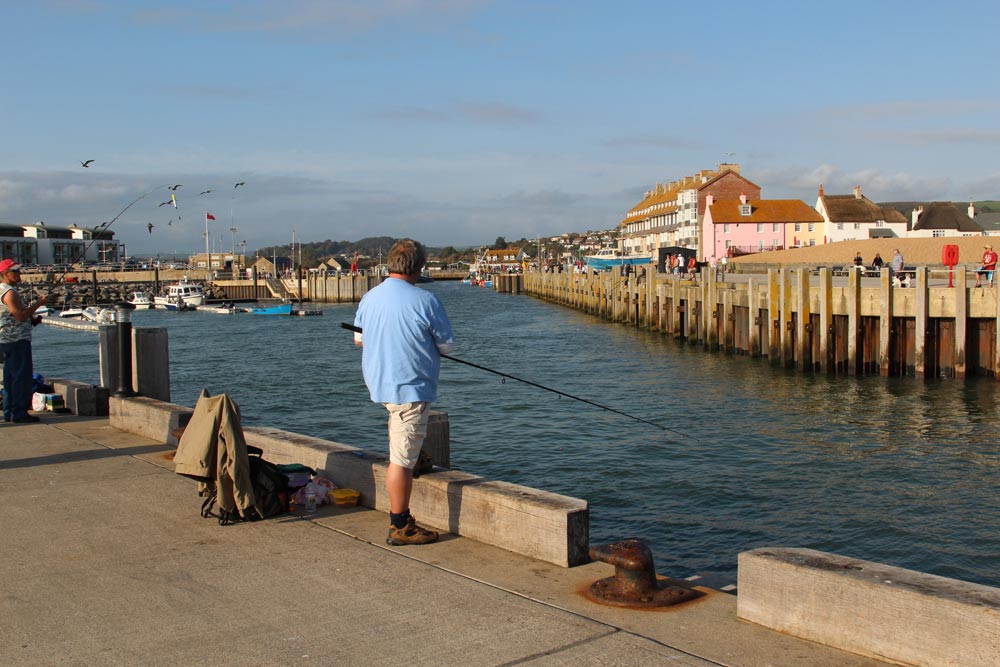
[[[219,510],[232,513],[254,506],[247,444],[240,409],[226,394],[198,398],[174,455],[174,472],[198,480],[199,495],[214,489]]]

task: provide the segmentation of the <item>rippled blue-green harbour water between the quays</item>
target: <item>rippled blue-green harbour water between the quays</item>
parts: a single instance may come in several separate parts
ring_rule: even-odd
[[[591,543],[641,537],[675,577],[735,578],[739,552],[795,546],[1000,586],[1000,385],[809,376],[709,354],[525,296],[426,285],[454,356],[660,430],[444,362],[454,467],[585,498]],[[385,413],[340,323],[135,311],[169,330],[174,402],[228,392],[244,423],[385,450]],[[35,366],[96,382],[97,336],[35,330]]]

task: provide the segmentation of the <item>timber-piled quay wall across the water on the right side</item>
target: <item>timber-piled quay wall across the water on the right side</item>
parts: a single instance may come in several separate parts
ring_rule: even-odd
[[[1000,290],[968,287],[965,272],[953,287],[929,285],[926,267],[909,287],[893,285],[888,269],[874,285],[853,272],[834,285],[826,268],[816,277],[805,268],[770,269],[740,282],[713,273],[639,283],[610,273],[529,273],[523,284],[536,298],[803,372],[998,377]]]

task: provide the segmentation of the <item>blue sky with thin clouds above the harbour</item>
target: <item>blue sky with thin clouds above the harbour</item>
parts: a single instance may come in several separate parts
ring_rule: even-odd
[[[206,212],[219,251],[476,246],[612,229],[727,162],[765,199],[1000,199],[998,19],[961,0],[0,0],[0,224],[114,220],[130,255],[203,251]]]

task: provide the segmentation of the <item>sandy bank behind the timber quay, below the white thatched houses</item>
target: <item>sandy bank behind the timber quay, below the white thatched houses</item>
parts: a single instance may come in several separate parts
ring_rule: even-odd
[[[978,266],[983,257],[983,246],[990,244],[1000,248],[1000,238],[991,236],[948,236],[916,239],[865,239],[862,241],[840,241],[804,248],[789,248],[731,259],[739,264],[769,264],[773,266],[847,266],[854,263],[854,255],[859,251],[866,266],[871,266],[875,253],[880,253],[886,266],[892,262],[893,250],[899,248],[906,266],[943,267],[941,251],[946,244],[958,246],[959,265],[967,268]]]

